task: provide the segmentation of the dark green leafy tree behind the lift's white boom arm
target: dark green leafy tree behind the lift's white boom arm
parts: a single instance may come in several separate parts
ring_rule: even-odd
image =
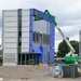
[[[70,44],[73,46],[73,49],[76,50],[76,54],[79,54],[79,42],[76,40],[71,40]],[[57,52],[57,56],[58,57],[65,57],[65,55],[70,51],[69,46],[67,45],[66,41],[63,40],[59,44],[58,44],[58,52]]]

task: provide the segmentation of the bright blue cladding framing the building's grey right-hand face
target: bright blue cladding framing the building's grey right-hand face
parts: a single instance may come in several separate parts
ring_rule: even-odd
[[[30,40],[29,40],[29,52],[32,52],[32,27],[33,27],[33,12],[37,12],[37,14],[39,15],[43,15],[43,12],[38,11],[36,9],[30,9],[30,24],[29,24],[29,30],[30,30]],[[53,16],[55,18],[55,16]],[[52,21],[50,19],[50,16],[46,14],[43,17],[44,21],[50,22],[50,63],[54,63],[54,40],[55,40],[55,26],[52,23]],[[41,49],[41,54],[39,55],[39,62],[42,62],[43,64],[45,64],[45,49],[44,48],[40,48]],[[37,51],[36,51],[37,52]]]

